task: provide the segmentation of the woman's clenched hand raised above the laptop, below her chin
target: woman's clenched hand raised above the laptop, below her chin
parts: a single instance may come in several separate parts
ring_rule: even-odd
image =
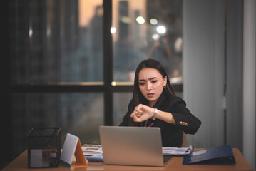
[[[143,122],[152,118],[155,109],[148,107],[147,105],[139,104],[134,109],[133,120],[134,122]]]

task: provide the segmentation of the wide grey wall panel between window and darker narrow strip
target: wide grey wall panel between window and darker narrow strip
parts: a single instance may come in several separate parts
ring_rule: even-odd
[[[188,135],[194,147],[214,147],[225,141],[224,12],[224,1],[183,1],[183,97],[202,121],[198,133]]]

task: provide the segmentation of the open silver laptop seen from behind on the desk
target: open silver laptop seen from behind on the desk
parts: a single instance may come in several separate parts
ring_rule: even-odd
[[[160,128],[100,126],[106,165],[164,166]]]

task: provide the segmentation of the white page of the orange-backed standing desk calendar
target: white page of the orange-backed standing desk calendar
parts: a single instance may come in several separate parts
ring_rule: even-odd
[[[61,160],[63,162],[67,162],[69,165],[72,164],[73,155],[76,151],[76,145],[78,143],[78,137],[75,135],[67,134],[66,140],[63,145],[63,149],[61,152]]]

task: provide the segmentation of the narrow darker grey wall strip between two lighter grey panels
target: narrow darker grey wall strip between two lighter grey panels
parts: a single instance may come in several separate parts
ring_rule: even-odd
[[[243,1],[227,1],[226,143],[242,152],[242,13]]]

